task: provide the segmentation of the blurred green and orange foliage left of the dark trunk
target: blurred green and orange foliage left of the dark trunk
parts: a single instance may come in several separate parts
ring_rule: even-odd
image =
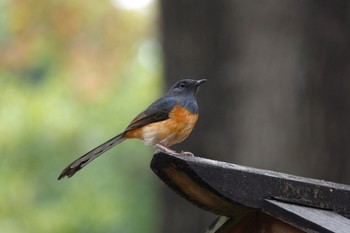
[[[160,95],[155,9],[0,1],[0,232],[157,232],[141,142],[56,180]]]

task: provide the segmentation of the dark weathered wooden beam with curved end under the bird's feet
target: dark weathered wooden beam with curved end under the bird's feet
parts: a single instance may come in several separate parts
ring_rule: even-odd
[[[156,153],[153,171],[173,190],[216,214],[243,216],[265,199],[332,210],[350,218],[350,186],[199,157]]]

